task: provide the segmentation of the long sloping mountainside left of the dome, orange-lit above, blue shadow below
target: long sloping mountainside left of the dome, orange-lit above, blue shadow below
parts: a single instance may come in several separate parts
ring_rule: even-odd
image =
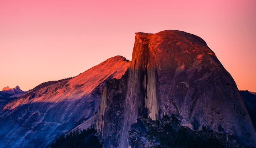
[[[115,56],[72,79],[42,83],[0,112],[0,147],[47,147],[60,134],[93,117],[103,84],[130,65]]]

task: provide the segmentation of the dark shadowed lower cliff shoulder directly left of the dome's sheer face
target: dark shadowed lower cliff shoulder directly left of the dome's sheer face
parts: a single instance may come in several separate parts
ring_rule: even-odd
[[[127,93],[129,69],[121,79],[107,80],[101,95],[96,129],[104,147],[118,147],[122,122],[124,120],[124,101]]]

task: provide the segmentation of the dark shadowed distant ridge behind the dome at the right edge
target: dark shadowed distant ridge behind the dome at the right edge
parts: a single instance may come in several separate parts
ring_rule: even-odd
[[[240,91],[240,95],[256,130],[256,92],[250,92],[248,90]]]

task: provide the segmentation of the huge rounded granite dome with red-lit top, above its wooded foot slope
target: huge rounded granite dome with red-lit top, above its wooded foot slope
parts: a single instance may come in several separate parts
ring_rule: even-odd
[[[128,147],[128,131],[137,118],[161,119],[172,114],[190,129],[201,130],[204,124],[217,132],[237,135],[239,143],[255,145],[255,130],[235,81],[200,37],[176,30],[136,33],[129,69],[121,102],[100,104],[104,107],[99,109],[102,115],[97,120],[102,125],[97,128],[106,147],[116,147],[116,143],[117,147]],[[102,98],[116,96],[112,87]],[[107,101],[111,102],[110,98]],[[108,118],[116,106],[120,112]],[[115,116],[122,118],[112,118]],[[106,130],[119,122],[118,129]],[[119,138],[108,143],[103,134],[106,131]]]

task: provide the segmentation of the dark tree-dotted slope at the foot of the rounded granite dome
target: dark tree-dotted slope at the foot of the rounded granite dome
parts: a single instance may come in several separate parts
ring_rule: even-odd
[[[180,125],[175,117],[162,120],[137,119],[129,132],[129,143],[134,148],[240,148],[233,135],[217,133],[203,125],[203,130],[193,131]]]

